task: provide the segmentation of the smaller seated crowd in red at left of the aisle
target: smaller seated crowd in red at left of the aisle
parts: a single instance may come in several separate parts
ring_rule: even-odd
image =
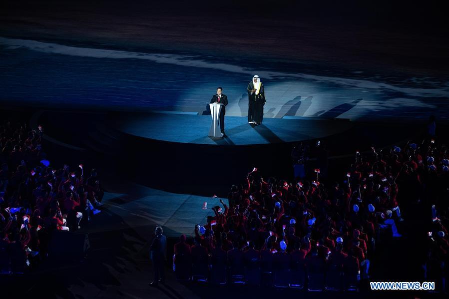
[[[0,271],[23,273],[45,259],[54,231],[76,231],[100,213],[95,170],[52,165],[42,127],[5,121],[0,127]]]

